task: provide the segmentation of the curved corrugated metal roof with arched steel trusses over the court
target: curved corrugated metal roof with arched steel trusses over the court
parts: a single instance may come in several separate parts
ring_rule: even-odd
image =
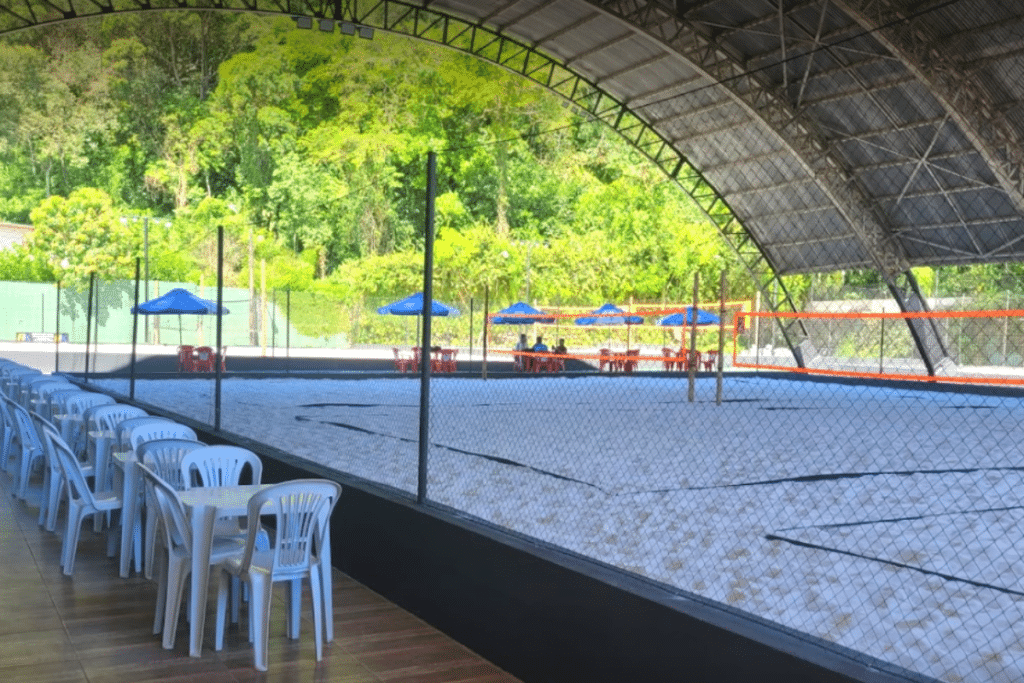
[[[912,266],[1024,257],[1020,3],[0,0],[0,32],[168,8],[406,33],[518,71],[676,177],[765,290],[872,268],[920,310]],[[911,327],[934,370],[938,335]],[[791,332],[794,347],[806,338]]]

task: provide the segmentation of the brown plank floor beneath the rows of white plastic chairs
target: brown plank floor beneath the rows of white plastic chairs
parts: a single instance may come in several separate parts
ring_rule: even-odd
[[[233,626],[214,652],[208,604],[203,656],[188,656],[187,624],[175,648],[153,635],[156,585],[118,577],[105,542],[87,524],[75,575],[57,566],[60,537],[41,529],[37,510],[10,496],[0,474],[0,680],[18,683],[146,681],[325,681],[337,683],[515,683],[517,679],[335,570],[335,640],[319,664],[313,652],[308,588],[302,633],[285,635],[284,594],[271,616],[269,671],[252,666],[252,649]],[[245,607],[242,627],[245,628]]]

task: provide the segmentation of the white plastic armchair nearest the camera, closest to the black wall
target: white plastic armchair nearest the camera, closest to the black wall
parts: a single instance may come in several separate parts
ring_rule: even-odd
[[[331,512],[341,496],[341,485],[327,479],[297,479],[265,488],[249,501],[248,535],[242,557],[231,556],[220,564],[217,586],[217,631],[214,648],[223,649],[224,622],[227,607],[228,578],[242,578],[251,587],[249,605],[250,633],[253,639],[253,659],[258,671],[266,671],[269,644],[270,596],[274,582],[309,579],[312,593],[313,631],[316,660],[324,655],[324,582],[321,571],[330,558],[324,553]],[[274,520],[274,541],[269,550],[256,547],[260,517]],[[290,614],[291,614],[290,610]],[[289,617],[289,635],[297,635],[297,625]]]

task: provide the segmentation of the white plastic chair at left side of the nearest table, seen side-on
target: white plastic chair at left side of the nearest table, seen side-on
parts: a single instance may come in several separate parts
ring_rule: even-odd
[[[164,649],[174,649],[181,599],[191,566],[195,549],[191,527],[185,516],[184,506],[177,492],[143,464],[138,465],[145,481],[146,490],[152,493],[160,511],[162,538],[167,548],[166,561],[161,561],[157,571],[157,609],[153,621],[153,633],[163,631]],[[210,563],[220,564],[229,557],[241,556],[245,546],[238,538],[214,537],[210,550]],[[162,558],[163,560],[164,558]]]

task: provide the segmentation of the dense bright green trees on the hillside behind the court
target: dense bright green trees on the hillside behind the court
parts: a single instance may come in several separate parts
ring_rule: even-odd
[[[0,220],[36,227],[0,279],[130,278],[145,252],[153,279],[210,284],[219,225],[229,285],[265,275],[353,310],[404,296],[434,151],[438,298],[685,301],[698,272],[710,300],[722,270],[730,298],[753,295],[714,226],[613,131],[408,38],[215,12],[51,27],[0,43]]]

